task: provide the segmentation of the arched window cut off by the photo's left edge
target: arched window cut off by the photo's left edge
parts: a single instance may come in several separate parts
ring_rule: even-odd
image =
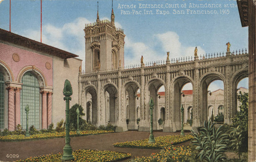
[[[5,127],[5,78],[0,73],[0,129]]]

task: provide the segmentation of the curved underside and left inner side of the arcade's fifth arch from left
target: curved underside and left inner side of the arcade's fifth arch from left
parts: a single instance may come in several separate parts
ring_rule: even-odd
[[[170,83],[170,93],[171,93],[170,106],[172,107],[172,109],[170,109],[170,112],[172,114],[172,118],[173,118],[173,122],[175,123],[176,130],[181,130],[181,112],[180,112],[180,107],[182,103],[181,90],[187,83],[191,83],[194,90],[194,87],[195,87],[194,80],[187,75],[177,76]],[[193,94],[194,94],[194,91],[193,91]]]

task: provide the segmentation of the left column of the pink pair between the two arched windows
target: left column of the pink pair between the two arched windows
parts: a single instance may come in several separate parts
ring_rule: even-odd
[[[14,105],[14,87],[7,87],[8,90],[8,130],[15,130],[15,105]]]

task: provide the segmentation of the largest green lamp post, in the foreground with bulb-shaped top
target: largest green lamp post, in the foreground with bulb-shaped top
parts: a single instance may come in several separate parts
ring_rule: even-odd
[[[70,136],[69,136],[69,101],[71,100],[71,95],[73,94],[72,86],[68,79],[65,80],[64,88],[63,88],[63,98],[66,100],[66,145],[63,148],[63,155],[61,157],[62,161],[70,161],[73,160],[74,157],[72,155],[72,147],[70,146]]]

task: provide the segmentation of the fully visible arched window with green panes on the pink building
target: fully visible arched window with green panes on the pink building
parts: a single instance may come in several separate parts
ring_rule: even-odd
[[[22,90],[20,91],[20,124],[26,129],[26,105],[29,105],[29,127],[34,125],[39,129],[39,83],[37,78],[26,72],[22,77]]]

